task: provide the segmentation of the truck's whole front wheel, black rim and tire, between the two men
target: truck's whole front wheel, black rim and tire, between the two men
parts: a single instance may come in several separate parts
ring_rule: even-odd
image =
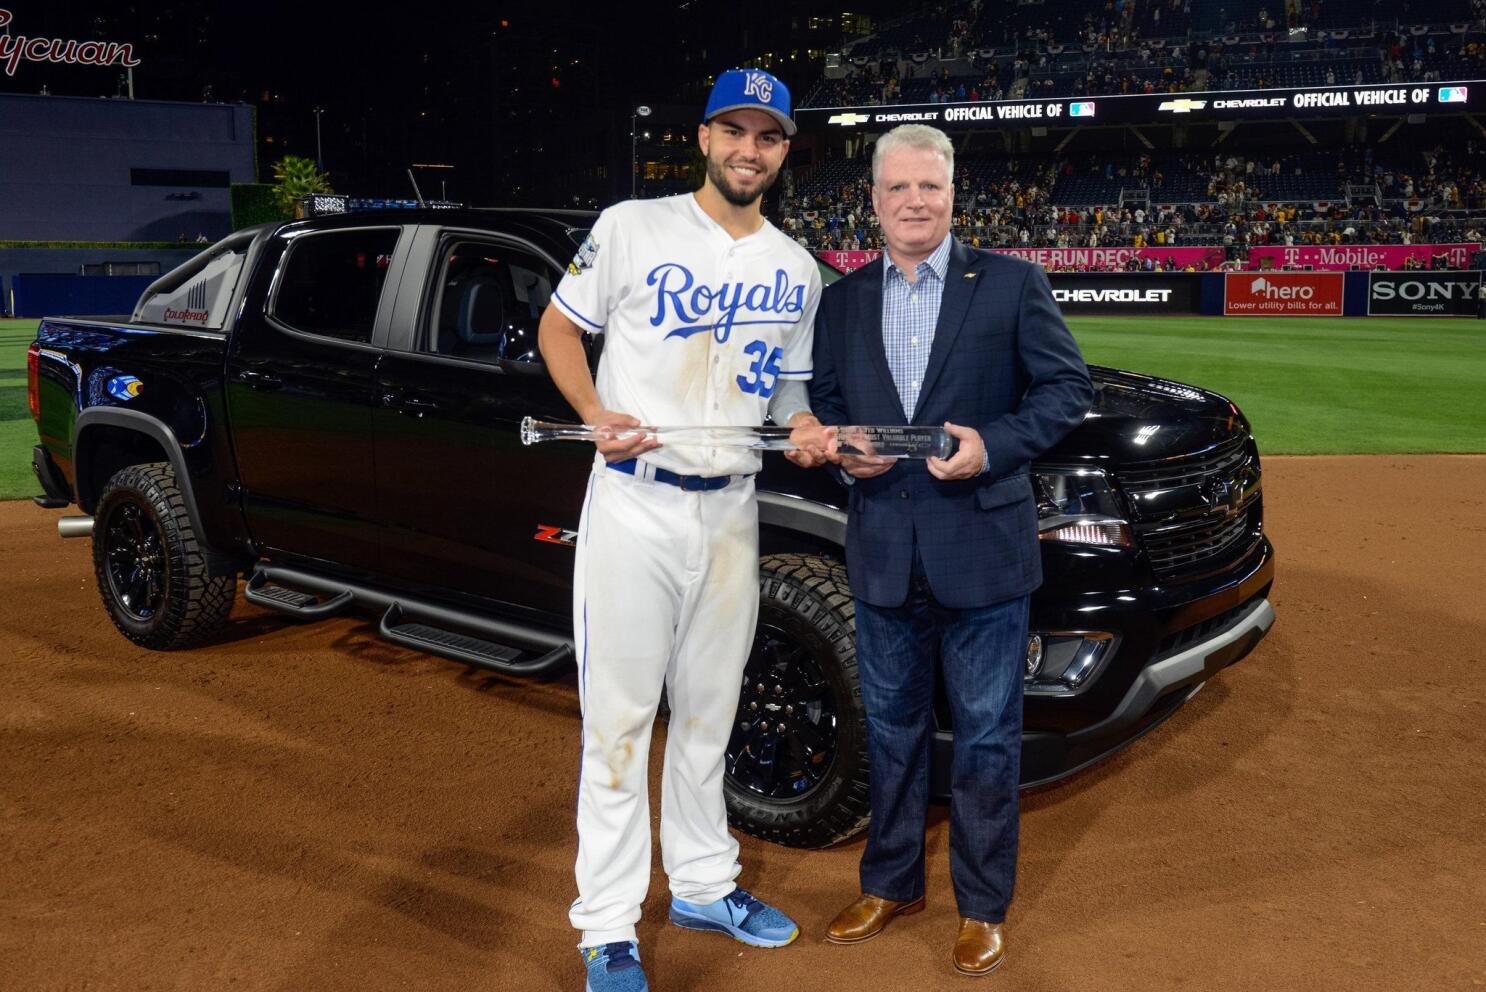
[[[866,827],[856,610],[840,561],[777,554],[759,563],[758,631],[724,793],[733,826],[788,846],[825,848]]]

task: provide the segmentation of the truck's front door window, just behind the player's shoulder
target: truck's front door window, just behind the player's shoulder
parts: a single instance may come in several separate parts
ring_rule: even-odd
[[[553,294],[550,267],[508,245],[447,242],[429,350],[539,365],[536,324]]]

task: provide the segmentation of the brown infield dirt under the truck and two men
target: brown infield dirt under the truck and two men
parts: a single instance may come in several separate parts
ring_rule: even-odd
[[[1024,797],[1002,970],[951,971],[935,806],[929,909],[853,947],[822,933],[860,841],[743,838],[740,882],[804,930],[782,950],[666,924],[657,857],[651,986],[1486,986],[1486,457],[1268,459],[1265,486],[1276,627],[1153,734]],[[146,652],[56,515],[0,503],[0,988],[583,988],[572,679],[241,600],[220,643]]]

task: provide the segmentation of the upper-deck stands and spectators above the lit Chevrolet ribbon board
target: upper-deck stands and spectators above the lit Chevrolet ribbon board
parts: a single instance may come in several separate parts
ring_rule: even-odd
[[[807,107],[1479,79],[1486,0],[936,3],[844,52]]]

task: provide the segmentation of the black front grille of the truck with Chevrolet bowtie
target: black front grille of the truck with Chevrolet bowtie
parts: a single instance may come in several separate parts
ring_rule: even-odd
[[[1135,538],[1161,579],[1219,567],[1259,539],[1259,465],[1244,437],[1190,457],[1131,463],[1117,480],[1134,506],[1161,508],[1134,520]]]

